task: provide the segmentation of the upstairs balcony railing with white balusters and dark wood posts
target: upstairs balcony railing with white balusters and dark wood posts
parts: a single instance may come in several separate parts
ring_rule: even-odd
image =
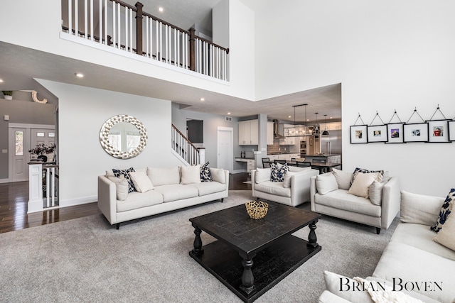
[[[228,48],[119,0],[62,0],[63,31],[79,38],[228,81]]]

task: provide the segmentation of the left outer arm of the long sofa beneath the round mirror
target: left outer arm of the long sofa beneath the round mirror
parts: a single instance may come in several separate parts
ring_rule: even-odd
[[[117,189],[115,183],[107,177],[98,176],[98,208],[105,215],[107,221],[117,223]]]

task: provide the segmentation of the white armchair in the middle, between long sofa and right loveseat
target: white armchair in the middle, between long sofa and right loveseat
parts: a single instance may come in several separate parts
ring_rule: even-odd
[[[271,168],[258,168],[251,171],[253,197],[297,206],[310,199],[310,177],[319,174],[311,167],[289,167],[284,182],[272,182]]]

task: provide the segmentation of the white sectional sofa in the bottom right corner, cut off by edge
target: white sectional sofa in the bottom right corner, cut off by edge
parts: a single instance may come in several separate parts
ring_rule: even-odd
[[[395,285],[392,296],[401,290],[422,302],[455,302],[455,251],[435,242],[437,233],[430,230],[443,203],[444,198],[402,192],[400,224],[373,276],[366,280],[385,282],[392,290]],[[324,276],[327,290],[319,302],[373,302],[368,292],[339,291],[342,276],[332,272],[325,272]],[[402,298],[396,302],[411,301]]]

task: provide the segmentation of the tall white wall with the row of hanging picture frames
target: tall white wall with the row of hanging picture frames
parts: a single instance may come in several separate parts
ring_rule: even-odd
[[[435,196],[455,186],[454,143],[351,145],[349,135],[358,113],[387,123],[396,109],[407,121],[417,107],[430,119],[439,104],[455,116],[454,1],[256,2],[257,99],[341,82],[343,169],[390,170],[402,189]]]

